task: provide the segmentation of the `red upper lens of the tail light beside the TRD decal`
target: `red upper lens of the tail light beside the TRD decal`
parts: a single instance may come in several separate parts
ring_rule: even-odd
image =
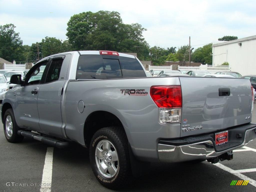
[[[152,86],[150,95],[159,108],[182,107],[182,93],[179,85]]]

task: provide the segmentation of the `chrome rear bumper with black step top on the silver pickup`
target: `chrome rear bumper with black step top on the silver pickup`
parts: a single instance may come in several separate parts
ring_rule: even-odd
[[[211,159],[243,147],[256,138],[256,124],[239,125],[227,130],[229,142],[220,146],[215,146],[215,133],[178,140],[160,140],[158,142],[159,160],[161,162],[183,162]]]

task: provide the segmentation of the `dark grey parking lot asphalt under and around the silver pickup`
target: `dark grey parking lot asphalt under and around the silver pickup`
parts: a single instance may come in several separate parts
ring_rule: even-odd
[[[256,123],[256,103],[252,122]],[[51,146],[28,138],[24,138],[22,143],[9,143],[5,139],[2,122],[0,143],[0,192],[39,192],[41,187],[35,185],[42,181],[47,148]],[[101,186],[93,175],[86,148],[71,144],[68,148],[53,150],[52,192],[112,191]],[[134,179],[121,191],[256,191],[256,140],[234,151],[233,157],[232,161],[215,165],[207,161],[197,164],[151,163],[146,174]],[[235,173],[232,170],[239,171]],[[250,182],[246,186],[230,186],[232,180]]]

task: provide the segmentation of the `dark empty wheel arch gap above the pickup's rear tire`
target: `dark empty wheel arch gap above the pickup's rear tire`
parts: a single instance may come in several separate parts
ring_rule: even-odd
[[[90,145],[91,138],[96,131],[103,127],[110,126],[120,127],[120,129],[124,129],[124,126],[120,119],[113,113],[107,111],[94,111],[90,115],[88,115],[84,123],[83,131],[85,145],[87,147]]]

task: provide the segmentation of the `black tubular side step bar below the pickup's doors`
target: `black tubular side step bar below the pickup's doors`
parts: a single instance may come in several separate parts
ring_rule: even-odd
[[[55,147],[58,147],[58,148],[65,148],[69,145],[68,142],[59,141],[59,140],[54,139],[54,138],[41,136],[41,135],[38,135],[36,133],[29,132],[29,131],[24,131],[24,130],[19,130],[18,135],[22,135],[24,137],[32,138],[34,140],[41,141],[42,143],[52,145],[52,146],[55,146]]]

